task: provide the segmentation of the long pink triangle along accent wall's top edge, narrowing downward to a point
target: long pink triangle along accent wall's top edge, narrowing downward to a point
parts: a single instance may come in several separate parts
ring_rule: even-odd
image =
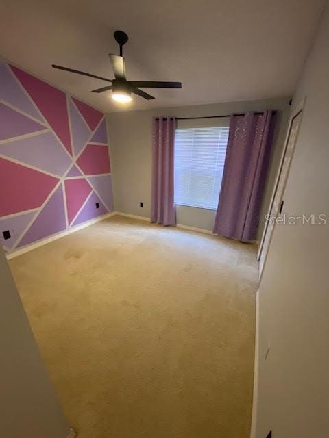
[[[23,70],[11,66],[21,84],[32,97],[40,112],[55,131],[65,148],[72,155],[69,117],[66,107],[66,94],[48,83],[25,73]]]

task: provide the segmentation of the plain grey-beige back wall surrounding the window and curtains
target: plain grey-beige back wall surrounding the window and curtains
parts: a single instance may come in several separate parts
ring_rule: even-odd
[[[137,98],[136,98],[137,99]],[[267,211],[271,188],[276,176],[282,150],[289,99],[267,99],[235,103],[217,103],[191,107],[174,107],[144,111],[111,113],[107,116],[112,160],[114,207],[116,211],[140,216],[150,215],[151,207],[151,119],[154,116],[213,116],[232,112],[261,111],[265,108],[279,110],[276,142],[273,147],[271,168],[265,191],[262,218]],[[143,201],[144,207],[139,203]],[[178,206],[179,224],[212,230],[215,211]],[[263,219],[260,231],[263,229]]]

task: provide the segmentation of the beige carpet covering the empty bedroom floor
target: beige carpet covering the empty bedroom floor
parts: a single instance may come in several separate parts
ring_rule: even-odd
[[[10,266],[79,438],[249,438],[254,246],[115,217]]]

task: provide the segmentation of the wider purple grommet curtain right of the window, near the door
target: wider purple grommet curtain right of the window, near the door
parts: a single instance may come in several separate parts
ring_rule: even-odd
[[[271,110],[231,116],[214,233],[256,240],[275,119]]]

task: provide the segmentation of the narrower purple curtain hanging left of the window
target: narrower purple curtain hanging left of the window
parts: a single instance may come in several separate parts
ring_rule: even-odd
[[[176,224],[173,203],[175,128],[176,119],[173,117],[153,119],[151,222],[163,225]]]

